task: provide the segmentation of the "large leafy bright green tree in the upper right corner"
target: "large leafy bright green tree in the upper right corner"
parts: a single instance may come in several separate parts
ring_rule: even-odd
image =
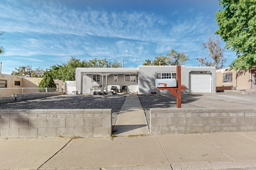
[[[250,69],[256,64],[256,1],[219,0],[223,10],[216,13],[219,29],[215,32],[236,52],[231,69]]]

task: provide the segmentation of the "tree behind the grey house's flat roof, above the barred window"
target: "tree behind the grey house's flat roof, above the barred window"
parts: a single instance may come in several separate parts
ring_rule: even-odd
[[[159,55],[155,57],[154,61],[146,60],[146,63],[143,65],[168,65],[168,66],[175,66],[184,64],[185,61],[189,60],[188,56],[185,53],[177,52],[174,49],[170,51],[169,54],[166,56]]]

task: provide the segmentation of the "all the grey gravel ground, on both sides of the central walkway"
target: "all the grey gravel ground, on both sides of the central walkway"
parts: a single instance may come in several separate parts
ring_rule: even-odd
[[[240,95],[256,98],[256,93]],[[112,109],[112,124],[115,125],[126,96],[127,95],[61,95],[21,102],[3,103],[0,104],[0,109]],[[176,108],[176,100],[172,100],[160,94],[139,94],[138,98],[144,109],[148,125],[150,108]],[[182,103],[181,106],[183,108],[202,107],[186,103]]]

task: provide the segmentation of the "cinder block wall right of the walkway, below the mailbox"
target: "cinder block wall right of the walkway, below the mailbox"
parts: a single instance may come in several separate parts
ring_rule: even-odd
[[[256,131],[256,110],[152,108],[151,135]]]

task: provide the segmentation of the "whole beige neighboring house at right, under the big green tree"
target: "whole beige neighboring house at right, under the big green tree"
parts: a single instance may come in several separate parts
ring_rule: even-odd
[[[216,70],[216,90],[256,89],[256,66],[250,70]]]

